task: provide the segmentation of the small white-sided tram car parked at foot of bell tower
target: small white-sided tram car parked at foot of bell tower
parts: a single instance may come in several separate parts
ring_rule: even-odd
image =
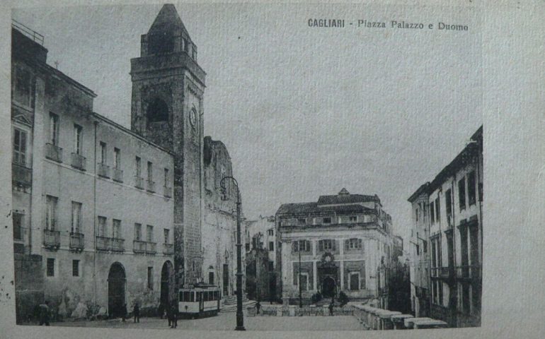
[[[180,318],[217,316],[221,295],[215,285],[184,285],[178,292]]]

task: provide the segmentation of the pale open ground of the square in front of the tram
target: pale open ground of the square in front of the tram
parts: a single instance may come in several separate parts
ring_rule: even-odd
[[[139,323],[132,319],[122,323],[120,319],[108,321],[65,321],[52,326],[79,326],[104,328],[157,328],[167,331],[207,330],[229,331],[236,325],[235,312],[220,313],[205,319],[180,319],[178,328],[168,328],[166,319],[141,318]],[[244,316],[244,327],[248,331],[338,331],[362,330],[354,316]]]

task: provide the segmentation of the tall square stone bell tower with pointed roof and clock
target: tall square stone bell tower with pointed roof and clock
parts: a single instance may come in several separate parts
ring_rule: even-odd
[[[202,278],[203,95],[197,46],[173,4],[165,4],[131,59],[131,129],[174,155],[176,285]]]

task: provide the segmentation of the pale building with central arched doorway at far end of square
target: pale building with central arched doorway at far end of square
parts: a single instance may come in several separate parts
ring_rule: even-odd
[[[320,196],[286,203],[276,213],[277,270],[285,304],[345,292],[352,300],[376,299],[386,308],[392,224],[378,196]]]

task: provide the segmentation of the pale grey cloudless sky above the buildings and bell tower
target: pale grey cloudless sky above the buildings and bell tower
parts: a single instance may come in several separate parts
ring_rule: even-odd
[[[407,198],[481,126],[479,15],[469,8],[176,4],[207,72],[205,135],[229,150],[248,219],[345,187],[377,194],[407,237]],[[130,59],[160,4],[19,8],[48,64],[130,127]],[[310,28],[309,18],[345,18]],[[357,28],[357,20],[387,28]],[[468,31],[390,28],[391,20]],[[354,25],[349,25],[349,22]]]

